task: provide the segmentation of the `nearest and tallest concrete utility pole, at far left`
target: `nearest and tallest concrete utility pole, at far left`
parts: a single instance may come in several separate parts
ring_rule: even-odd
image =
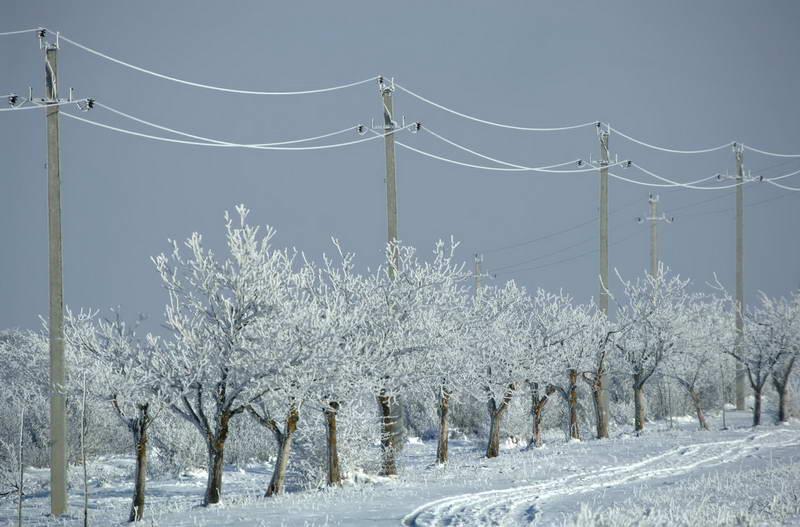
[[[45,49],[47,202],[50,231],[50,512],[67,512],[67,408],[64,396],[64,285],[61,248],[61,172],[58,144],[58,46]]]

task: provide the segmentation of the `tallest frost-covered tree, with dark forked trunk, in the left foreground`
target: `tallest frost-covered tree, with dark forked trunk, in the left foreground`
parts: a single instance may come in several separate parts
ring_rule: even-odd
[[[248,225],[248,211],[237,207],[238,221],[225,214],[229,255],[221,260],[192,234],[172,242],[170,255],[153,259],[169,295],[164,343],[170,357],[158,370],[164,390],[177,395],[171,409],[191,423],[208,451],[208,482],[203,504],[218,503],[222,492],[225,441],[231,419],[269,392],[277,365],[265,361],[263,328],[280,320],[292,257],[270,244],[274,231]],[[275,327],[275,331],[280,328]]]

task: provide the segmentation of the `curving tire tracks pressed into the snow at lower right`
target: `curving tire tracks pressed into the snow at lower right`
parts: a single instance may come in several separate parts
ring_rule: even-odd
[[[736,461],[760,448],[797,445],[796,432],[785,438],[786,432],[794,431],[778,429],[740,439],[683,445],[627,465],[522,487],[451,496],[418,507],[403,518],[403,525],[519,525],[530,522],[538,509],[537,503],[549,498],[591,492],[634,480],[682,475],[701,466]]]

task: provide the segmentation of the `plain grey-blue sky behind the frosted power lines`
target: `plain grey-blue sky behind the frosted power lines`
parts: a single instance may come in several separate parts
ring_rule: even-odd
[[[194,82],[251,90],[304,90],[375,75],[458,111],[530,127],[591,121],[677,149],[744,142],[800,153],[800,4],[744,2],[45,2],[4,5],[0,32],[46,26],[144,68]],[[0,95],[44,92],[34,34],[0,37]],[[144,75],[63,43],[62,89],[164,126],[234,142],[262,143],[382,119],[374,83],[306,96],[220,93]],[[593,127],[522,132],[448,114],[396,91],[398,119],[421,121],[492,157],[541,166],[596,160]],[[141,131],[94,109],[65,111]],[[167,135],[156,131],[159,135]],[[357,134],[331,142],[359,139]],[[463,162],[491,164],[425,134],[398,140]],[[676,155],[613,132],[612,159],[665,177],[733,174],[731,149]],[[0,328],[37,328],[47,313],[45,117],[0,113]],[[767,177],[800,169],[800,158],[745,154]],[[322,151],[277,152],[154,142],[67,118],[61,121],[65,302],[119,306],[157,327],[166,294],[150,257],[168,239],[204,235],[224,252],[223,214],[239,203],[274,226],[278,247],[312,258],[331,236],[374,267],[386,242],[382,140]],[[636,169],[620,175],[655,182]],[[800,186],[800,176],[783,180]],[[397,150],[399,236],[429,254],[461,241],[470,266],[484,254],[493,283],[514,279],[597,295],[599,176],[596,172],[494,172]],[[712,185],[715,183],[711,183]],[[720,183],[716,183],[720,184]],[[610,267],[625,278],[649,266],[649,189],[610,183]],[[733,291],[733,189],[662,189],[659,256],[698,289],[714,279]],[[744,188],[745,291],[785,295],[800,286],[800,192],[766,183]],[[562,232],[566,231],[566,232]],[[507,248],[513,246],[512,248]],[[612,279],[612,290],[616,289]]]

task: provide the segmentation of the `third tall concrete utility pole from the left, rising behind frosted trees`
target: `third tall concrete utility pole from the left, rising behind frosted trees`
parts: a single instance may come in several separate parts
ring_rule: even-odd
[[[608,130],[605,132],[597,123],[600,133],[600,297],[598,303],[608,316]],[[597,406],[597,437],[608,437],[608,389],[605,371],[598,370],[595,379],[595,405]]]

